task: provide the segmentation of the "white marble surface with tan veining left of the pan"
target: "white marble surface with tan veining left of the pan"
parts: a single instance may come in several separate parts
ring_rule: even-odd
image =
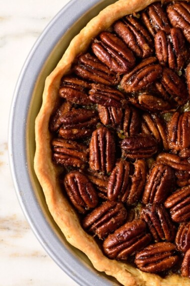
[[[26,221],[8,159],[8,121],[17,78],[36,39],[69,0],[0,0],[0,286],[75,286]]]

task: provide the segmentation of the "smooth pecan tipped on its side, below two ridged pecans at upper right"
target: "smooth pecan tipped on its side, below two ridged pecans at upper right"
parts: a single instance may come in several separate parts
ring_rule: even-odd
[[[142,110],[160,112],[171,109],[170,102],[147,92],[138,95],[137,98],[129,97],[129,100],[133,105]]]

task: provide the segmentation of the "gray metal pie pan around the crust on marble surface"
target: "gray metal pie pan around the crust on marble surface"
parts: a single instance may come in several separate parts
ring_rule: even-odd
[[[103,8],[116,0],[71,0],[50,22],[32,48],[15,89],[9,126],[9,158],[22,210],[52,259],[79,285],[120,285],[95,270],[86,255],[67,243],[54,222],[34,172],[35,118],[46,77],[71,39]],[[64,284],[64,281],[63,281]]]

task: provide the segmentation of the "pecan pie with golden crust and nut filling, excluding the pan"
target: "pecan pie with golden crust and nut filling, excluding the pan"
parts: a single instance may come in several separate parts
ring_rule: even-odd
[[[92,19],[36,119],[50,213],[123,285],[190,282],[190,5],[154,2],[119,0]]]

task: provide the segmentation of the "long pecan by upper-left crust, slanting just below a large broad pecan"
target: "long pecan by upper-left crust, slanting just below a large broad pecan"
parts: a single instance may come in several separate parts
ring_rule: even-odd
[[[77,76],[92,82],[106,85],[117,85],[120,82],[118,74],[89,53],[79,56],[78,64],[73,67],[73,71]]]

